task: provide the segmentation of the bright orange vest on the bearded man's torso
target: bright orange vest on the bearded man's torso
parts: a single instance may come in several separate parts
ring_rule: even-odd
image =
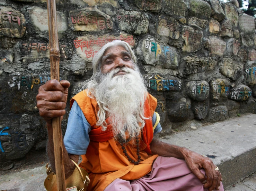
[[[102,131],[97,126],[98,104],[95,99],[87,96],[87,90],[81,91],[70,101],[70,108],[76,100],[81,108],[86,120],[91,125],[89,133],[90,143],[85,155],[82,155],[82,162],[79,166],[89,173],[91,180],[88,190],[103,191],[111,182],[120,178],[124,180],[134,180],[143,177],[151,171],[153,161],[158,155],[152,155],[149,144],[153,138],[152,120],[153,113],[157,107],[157,100],[149,93],[144,103],[145,126],[142,133],[139,134],[140,156],[139,165],[134,165],[123,153],[120,143],[112,138],[111,124],[108,124],[107,130]],[[107,120],[106,120],[107,122]],[[142,134],[142,135],[141,135]],[[126,151],[130,158],[137,161],[137,148],[134,140],[126,143]]]

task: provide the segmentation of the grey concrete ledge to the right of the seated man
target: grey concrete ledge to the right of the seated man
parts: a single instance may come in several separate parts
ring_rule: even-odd
[[[168,135],[160,140],[211,158],[221,171],[224,187],[256,171],[256,114]]]

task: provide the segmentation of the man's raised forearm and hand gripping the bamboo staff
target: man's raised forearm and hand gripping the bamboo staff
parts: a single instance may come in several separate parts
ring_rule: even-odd
[[[55,161],[53,148],[52,118],[63,118],[63,115],[65,114],[69,86],[70,83],[67,80],[62,80],[60,82],[57,80],[49,80],[38,89],[38,94],[36,96],[39,114],[41,115],[41,117],[44,118],[47,124],[47,154],[54,172]],[[65,147],[63,147],[63,160],[66,179],[72,174],[75,168],[73,162],[70,159],[78,162],[78,155],[68,154]]]

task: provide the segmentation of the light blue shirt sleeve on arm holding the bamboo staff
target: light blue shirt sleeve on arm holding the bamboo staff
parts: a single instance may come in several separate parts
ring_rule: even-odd
[[[69,154],[86,154],[90,142],[90,130],[91,125],[86,120],[77,102],[74,101],[64,136],[64,145]]]

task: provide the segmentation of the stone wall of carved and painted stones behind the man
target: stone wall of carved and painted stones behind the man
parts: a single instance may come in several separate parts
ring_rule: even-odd
[[[92,75],[95,53],[121,39],[158,100],[162,134],[256,113],[255,21],[237,7],[236,0],[57,0],[69,99]],[[49,79],[46,0],[0,0],[1,161],[45,147],[35,98]],[[68,113],[69,104],[63,132]]]

